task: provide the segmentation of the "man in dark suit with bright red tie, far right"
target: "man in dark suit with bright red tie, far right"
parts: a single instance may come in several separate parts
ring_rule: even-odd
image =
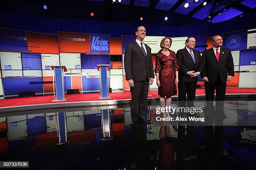
[[[212,48],[202,54],[205,81],[206,112],[214,112],[213,100],[216,90],[216,112],[225,117],[223,106],[226,92],[226,81],[234,77],[234,63],[231,51],[222,47],[222,37],[215,35],[211,39]]]

